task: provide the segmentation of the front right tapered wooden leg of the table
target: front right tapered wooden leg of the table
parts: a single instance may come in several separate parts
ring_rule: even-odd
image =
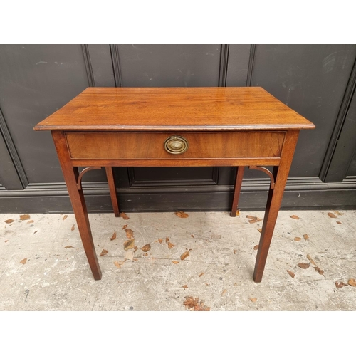
[[[290,131],[286,133],[286,139],[281,153],[280,165],[273,168],[275,185],[274,189],[270,188],[268,192],[266,212],[263,219],[261,238],[258,245],[255,270],[253,272],[253,280],[255,282],[261,282],[262,280],[274,226],[276,225],[284,188],[286,187],[290,164],[292,163],[295,145],[298,140],[298,134],[299,131]]]

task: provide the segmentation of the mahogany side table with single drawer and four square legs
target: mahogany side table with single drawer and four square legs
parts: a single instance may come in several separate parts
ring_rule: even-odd
[[[263,88],[87,88],[34,130],[51,130],[80,238],[101,279],[81,178],[105,167],[119,216],[112,167],[236,166],[231,216],[244,167],[271,178],[255,282],[261,282],[298,135],[315,125]],[[273,166],[273,172],[261,167]],[[78,172],[78,167],[87,167]]]

